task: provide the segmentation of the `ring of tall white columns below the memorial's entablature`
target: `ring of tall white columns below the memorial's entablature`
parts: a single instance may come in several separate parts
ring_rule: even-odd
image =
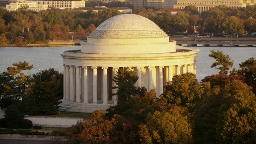
[[[110,69],[110,70],[109,70]],[[116,89],[110,90],[116,83],[112,81],[119,67],[72,66],[64,64],[64,101],[92,104],[116,104]],[[148,90],[158,89],[158,96],[163,93],[164,84],[171,81],[174,75],[187,72],[194,73],[193,64],[176,66],[132,67],[137,72],[137,86]],[[145,70],[142,74],[142,69]],[[154,71],[158,70],[158,72]],[[164,71],[165,70],[165,71]],[[158,74],[156,78],[156,73]],[[165,73],[165,74],[164,74]],[[143,78],[146,76],[146,78]],[[158,80],[156,86],[155,80]],[[148,84],[146,83],[148,82]],[[99,94],[99,92],[101,92]]]

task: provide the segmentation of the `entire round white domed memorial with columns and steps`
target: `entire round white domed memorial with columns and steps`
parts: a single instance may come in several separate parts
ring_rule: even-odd
[[[60,110],[93,112],[116,104],[118,69],[129,66],[137,73],[136,86],[155,89],[156,95],[172,76],[196,74],[198,50],[176,45],[154,22],[135,14],[121,14],[104,21],[81,42],[80,50],[61,54],[64,65],[64,97]]]

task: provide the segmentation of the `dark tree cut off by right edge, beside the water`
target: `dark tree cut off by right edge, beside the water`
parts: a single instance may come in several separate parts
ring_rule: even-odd
[[[256,60],[249,58],[245,62],[239,64],[238,74],[245,76],[245,83],[252,87],[252,91],[256,94]]]

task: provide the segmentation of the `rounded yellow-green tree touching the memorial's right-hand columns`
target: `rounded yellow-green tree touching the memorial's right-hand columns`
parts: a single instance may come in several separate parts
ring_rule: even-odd
[[[203,102],[203,89],[196,80],[195,74],[176,75],[164,88],[166,90],[163,96],[168,100],[168,103],[184,106],[190,112],[194,112],[196,106]]]

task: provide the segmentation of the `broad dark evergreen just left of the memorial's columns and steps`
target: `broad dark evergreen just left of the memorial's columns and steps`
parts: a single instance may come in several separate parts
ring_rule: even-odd
[[[40,76],[41,75],[41,76]],[[24,114],[51,115],[63,98],[63,74],[50,68],[33,74],[32,82],[22,100]]]

